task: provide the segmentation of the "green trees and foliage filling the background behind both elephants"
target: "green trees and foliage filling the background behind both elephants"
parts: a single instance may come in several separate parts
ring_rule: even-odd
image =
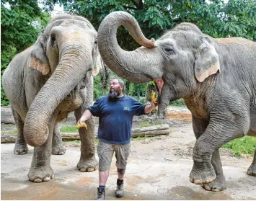
[[[240,36],[256,41],[255,0],[1,0],[1,75],[14,55],[35,42],[56,4],[63,5],[65,12],[86,17],[96,30],[107,14],[122,10],[136,17],[148,38],[156,39],[180,22],[193,22],[212,37]],[[118,30],[118,43],[125,50],[138,48],[124,28]],[[115,74],[110,72],[110,76],[101,74],[94,79],[94,98],[107,93],[106,83],[112,76]],[[140,99],[149,85],[125,80],[125,92]],[[1,105],[6,104],[1,86]]]

